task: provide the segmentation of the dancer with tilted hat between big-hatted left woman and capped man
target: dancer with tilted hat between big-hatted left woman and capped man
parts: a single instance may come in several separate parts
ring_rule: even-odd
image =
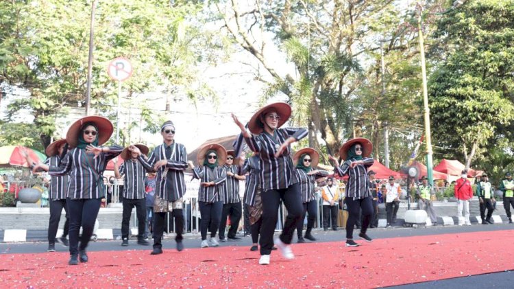
[[[136,144],[139,151],[145,156],[148,154],[148,147],[143,144]],[[147,246],[149,243],[145,240],[146,227],[146,199],[145,199],[145,174],[147,170],[138,161],[138,154],[130,152],[129,148],[125,148],[121,152],[121,158],[124,160],[118,168],[117,159],[113,159],[114,176],[123,180],[123,216],[121,217],[121,246],[128,246],[130,216],[132,209],[136,207],[136,215],[138,218],[138,244]]]

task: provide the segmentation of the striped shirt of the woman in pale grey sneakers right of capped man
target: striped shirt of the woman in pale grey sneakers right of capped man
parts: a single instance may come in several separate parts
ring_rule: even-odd
[[[200,185],[198,190],[198,201],[205,203],[214,203],[223,200],[223,182],[227,179],[225,169],[223,167],[202,167],[193,168],[193,176],[198,178],[201,183],[214,182],[215,185],[204,187]]]

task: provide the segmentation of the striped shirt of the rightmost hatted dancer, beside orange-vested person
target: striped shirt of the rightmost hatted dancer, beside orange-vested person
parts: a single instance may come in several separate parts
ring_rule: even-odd
[[[349,176],[348,184],[345,189],[345,198],[358,200],[360,198],[371,196],[371,194],[369,194],[369,177],[367,175],[367,169],[373,165],[375,160],[372,158],[364,158],[364,165],[356,165],[353,168],[350,167],[350,163],[352,163],[352,161],[356,160],[350,159],[345,161],[339,167],[334,167],[334,172],[339,176],[345,176],[346,174]]]

